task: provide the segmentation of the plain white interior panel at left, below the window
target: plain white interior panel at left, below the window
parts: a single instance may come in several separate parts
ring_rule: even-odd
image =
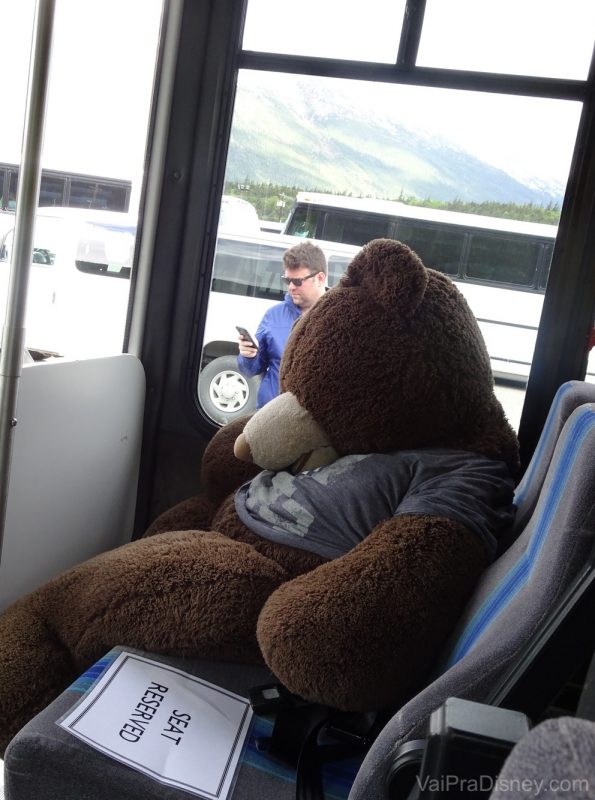
[[[145,377],[128,354],[23,367],[0,609],[130,540]]]

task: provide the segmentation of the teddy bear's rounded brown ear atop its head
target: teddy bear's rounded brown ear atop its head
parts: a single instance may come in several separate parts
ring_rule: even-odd
[[[421,259],[395,239],[374,239],[355,256],[341,286],[361,286],[374,300],[402,318],[421,303],[428,273]]]

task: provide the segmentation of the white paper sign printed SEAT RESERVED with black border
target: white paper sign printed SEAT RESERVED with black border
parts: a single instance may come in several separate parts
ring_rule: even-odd
[[[225,800],[251,718],[245,698],[122,652],[58,724],[162,783]]]

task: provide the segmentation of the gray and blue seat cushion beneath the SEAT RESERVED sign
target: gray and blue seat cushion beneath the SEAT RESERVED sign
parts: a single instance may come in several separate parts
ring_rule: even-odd
[[[139,652],[126,648],[129,652]],[[191,794],[153,780],[95,750],[59,727],[56,722],[80,699],[121,648],[114,648],[53,703],[38,714],[8,745],[4,758],[6,800],[188,800]],[[274,681],[264,667],[141,655],[173,665],[237,694]],[[256,739],[270,735],[272,721],[254,718],[233,790],[233,800],[293,800],[295,773],[256,747]],[[331,765],[326,770],[329,798],[343,800],[359,762]]]

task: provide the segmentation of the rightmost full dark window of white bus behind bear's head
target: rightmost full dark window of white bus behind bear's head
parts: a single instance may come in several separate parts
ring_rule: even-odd
[[[465,272],[469,278],[533,287],[540,251],[535,241],[474,233]]]

